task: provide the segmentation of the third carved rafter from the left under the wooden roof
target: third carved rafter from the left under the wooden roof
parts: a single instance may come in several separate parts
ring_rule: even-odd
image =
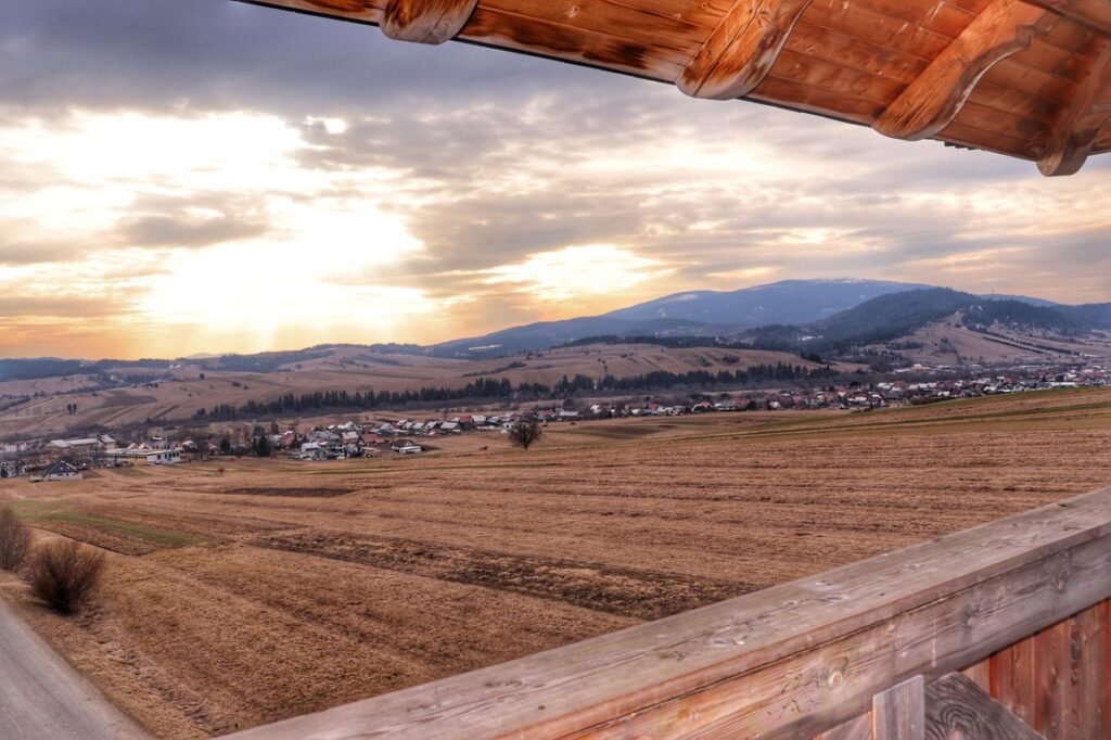
[[[988,70],[1028,48],[1058,17],[1020,0],[985,8],[872,123],[880,133],[917,141],[957,117]]]

